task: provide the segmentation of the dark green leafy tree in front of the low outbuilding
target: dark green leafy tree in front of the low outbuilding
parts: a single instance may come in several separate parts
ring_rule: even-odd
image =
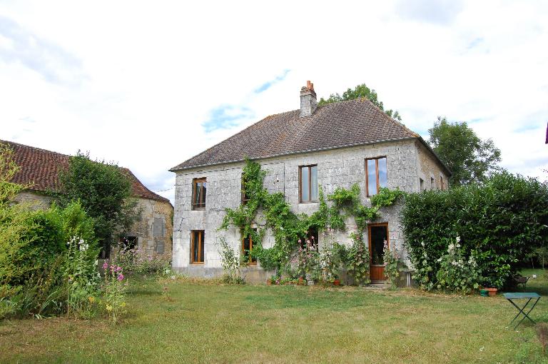
[[[121,168],[105,161],[91,161],[89,154],[78,151],[68,168],[59,175],[63,192],[59,204],[68,206],[80,201],[93,218],[95,235],[108,255],[113,236],[128,230],[140,217],[137,201],[131,198],[131,182]]]

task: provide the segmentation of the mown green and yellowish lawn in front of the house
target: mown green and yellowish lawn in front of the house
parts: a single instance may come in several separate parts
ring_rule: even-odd
[[[527,290],[548,295],[548,274]],[[502,295],[219,285],[133,278],[129,312],[108,320],[4,320],[0,362],[544,363]],[[548,298],[532,317],[548,322]]]

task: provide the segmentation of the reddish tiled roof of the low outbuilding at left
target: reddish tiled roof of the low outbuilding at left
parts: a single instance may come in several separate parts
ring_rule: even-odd
[[[16,173],[11,182],[31,184],[29,189],[33,191],[59,192],[61,190],[59,171],[68,167],[68,158],[70,156],[12,141],[0,140],[0,143],[6,143],[14,150],[14,161],[21,167],[21,170]],[[121,168],[121,170],[131,181],[133,196],[169,202],[167,198],[163,198],[146,188],[128,168]]]

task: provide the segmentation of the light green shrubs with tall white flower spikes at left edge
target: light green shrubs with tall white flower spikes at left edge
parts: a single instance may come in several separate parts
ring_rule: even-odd
[[[0,145],[0,318],[95,315],[102,294],[95,221],[80,201],[46,211],[15,203],[29,187],[10,182],[18,170],[13,151]]]

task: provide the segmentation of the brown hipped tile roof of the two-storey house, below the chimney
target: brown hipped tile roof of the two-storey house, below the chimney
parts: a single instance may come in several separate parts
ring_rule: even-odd
[[[320,106],[312,116],[300,111],[271,115],[170,171],[220,163],[344,148],[381,141],[420,138],[367,98]]]

